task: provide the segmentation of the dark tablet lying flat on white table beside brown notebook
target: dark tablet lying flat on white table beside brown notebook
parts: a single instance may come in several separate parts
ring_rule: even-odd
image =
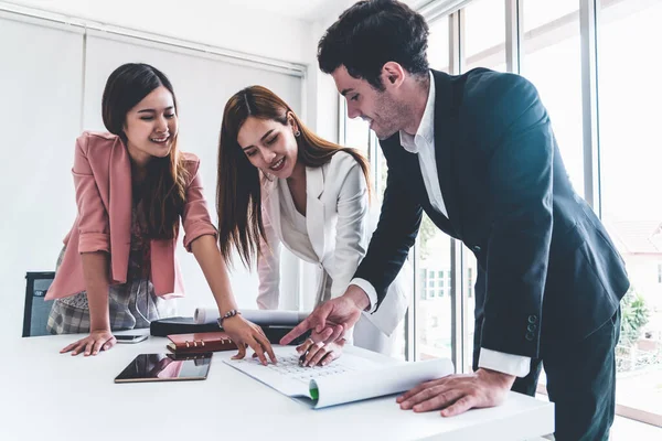
[[[115,378],[115,383],[206,379],[212,355],[140,354]]]

